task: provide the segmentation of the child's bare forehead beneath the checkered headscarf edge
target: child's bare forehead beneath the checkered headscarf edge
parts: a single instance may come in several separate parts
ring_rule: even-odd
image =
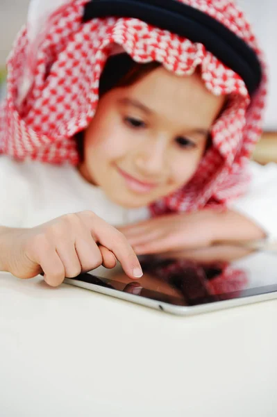
[[[212,95],[198,72],[177,76],[163,67],[121,90],[122,95],[141,101],[157,115],[195,126],[199,120],[210,125],[224,104],[224,97]]]

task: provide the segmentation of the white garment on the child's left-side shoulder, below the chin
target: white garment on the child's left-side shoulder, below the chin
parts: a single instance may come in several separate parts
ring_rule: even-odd
[[[16,162],[0,156],[0,225],[34,227],[67,213],[91,210],[113,226],[149,218],[148,208],[123,208],[71,165]]]

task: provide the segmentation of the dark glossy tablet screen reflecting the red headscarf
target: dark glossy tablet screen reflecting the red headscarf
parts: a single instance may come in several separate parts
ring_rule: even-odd
[[[277,254],[255,252],[233,261],[221,258],[144,256],[140,258],[144,275],[137,281],[127,277],[120,265],[112,270],[96,268],[74,279],[178,306],[277,291]]]

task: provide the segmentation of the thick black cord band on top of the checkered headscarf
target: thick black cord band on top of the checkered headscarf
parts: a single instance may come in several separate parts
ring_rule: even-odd
[[[258,89],[262,68],[255,51],[213,17],[176,0],[91,0],[83,22],[95,17],[134,17],[205,45],[221,63],[241,76],[249,95]]]

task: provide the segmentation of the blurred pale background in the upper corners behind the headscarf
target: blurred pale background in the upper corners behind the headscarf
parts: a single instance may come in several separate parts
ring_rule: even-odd
[[[12,42],[26,20],[30,0],[0,0],[0,82]],[[47,1],[47,0],[44,0]],[[269,100],[262,140],[254,158],[260,163],[277,163],[277,0],[237,0],[244,8],[260,39],[269,63]]]

